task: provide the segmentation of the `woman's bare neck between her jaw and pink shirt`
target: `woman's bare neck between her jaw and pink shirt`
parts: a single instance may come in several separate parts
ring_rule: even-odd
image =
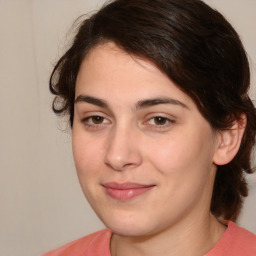
[[[114,234],[111,239],[112,256],[190,256],[204,255],[218,242],[225,231],[211,214],[191,222],[191,216],[182,223],[143,237],[124,237]],[[193,218],[195,219],[195,218]]]

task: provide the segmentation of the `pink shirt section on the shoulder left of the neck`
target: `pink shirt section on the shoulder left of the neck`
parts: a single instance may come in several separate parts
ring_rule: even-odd
[[[104,229],[88,236],[72,241],[42,256],[110,256],[109,244],[111,231]]]

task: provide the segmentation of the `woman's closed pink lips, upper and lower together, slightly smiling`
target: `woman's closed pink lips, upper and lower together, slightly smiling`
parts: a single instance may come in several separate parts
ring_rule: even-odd
[[[155,185],[109,182],[105,183],[103,187],[108,196],[116,200],[126,201],[145,194],[154,188]]]

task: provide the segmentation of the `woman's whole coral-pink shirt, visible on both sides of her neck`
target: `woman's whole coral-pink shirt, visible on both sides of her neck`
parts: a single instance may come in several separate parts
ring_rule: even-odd
[[[111,231],[102,231],[68,243],[42,256],[111,256]],[[256,236],[232,221],[219,242],[204,256],[256,256]]]

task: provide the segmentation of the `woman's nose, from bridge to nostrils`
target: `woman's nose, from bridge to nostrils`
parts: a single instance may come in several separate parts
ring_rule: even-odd
[[[116,127],[107,139],[105,164],[115,171],[124,171],[142,163],[137,136],[126,127]]]

